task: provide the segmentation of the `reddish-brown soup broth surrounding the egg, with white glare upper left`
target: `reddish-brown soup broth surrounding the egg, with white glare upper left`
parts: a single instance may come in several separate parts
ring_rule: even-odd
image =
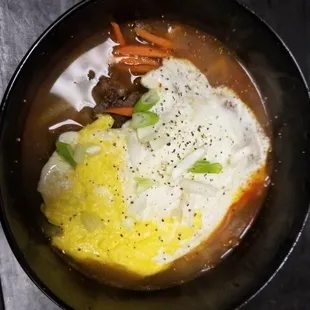
[[[137,26],[169,38],[174,42],[172,56],[191,61],[207,77],[213,87],[226,86],[234,91],[252,110],[268,135],[268,117],[257,86],[238,58],[216,38],[190,26],[166,20],[142,20],[120,26],[127,44],[145,43],[143,39],[137,37],[134,31]],[[37,193],[40,172],[55,150],[56,139],[63,132],[80,130],[82,126],[92,123],[96,114],[104,112],[106,106],[103,101],[107,98],[106,94],[103,94],[106,79],[109,79],[112,84],[114,82],[116,85],[121,84],[122,87],[119,89],[126,90],[127,98],[130,94],[135,94],[132,97],[132,105],[145,92],[140,85],[141,74],[123,70],[118,66],[110,66],[111,53],[105,48],[115,45],[117,44],[111,29],[94,34],[85,42],[81,42],[80,46],[69,54],[63,55],[62,61],[51,72],[48,72],[37,91],[22,137],[22,165],[24,175],[28,180],[25,190],[30,193],[29,204],[36,209],[39,209],[42,203]],[[93,59],[91,64],[87,63],[89,59]],[[73,64],[75,64],[74,68],[78,68],[76,70],[83,72],[88,80],[92,81],[90,94],[97,104],[96,107],[85,103],[87,100],[84,100],[84,105],[76,101],[78,97],[74,84],[80,83],[81,85],[82,82],[77,82],[73,76],[70,76],[70,72],[74,70],[68,71],[68,67]],[[102,85],[100,84],[101,77]],[[85,80],[85,83],[89,81]],[[64,83],[63,87],[59,86],[56,91],[53,91],[55,85],[60,85],[59,83]],[[81,96],[85,99],[86,95]],[[120,127],[129,119],[115,115],[113,117],[115,117],[114,127]],[[119,287],[160,289],[188,281],[220,263],[239,244],[264,200],[268,185],[268,165],[257,172],[259,177],[244,189],[242,197],[230,206],[220,225],[207,240],[188,254],[174,260],[168,269],[159,273],[140,277],[126,269],[104,266],[91,259],[76,261],[72,257],[67,257],[66,253],[59,254],[87,276]],[[43,215],[38,218],[38,225],[46,227],[46,223]],[[57,252],[60,251],[57,250]]]

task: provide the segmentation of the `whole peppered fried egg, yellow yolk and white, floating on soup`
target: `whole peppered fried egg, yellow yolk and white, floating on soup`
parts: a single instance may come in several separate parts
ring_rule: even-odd
[[[213,88],[189,61],[169,58],[142,77],[160,100],[154,126],[112,129],[102,115],[59,140],[91,145],[72,168],[54,152],[38,190],[55,247],[77,261],[157,274],[206,241],[265,165],[270,141],[231,90]],[[220,173],[192,173],[205,159]]]

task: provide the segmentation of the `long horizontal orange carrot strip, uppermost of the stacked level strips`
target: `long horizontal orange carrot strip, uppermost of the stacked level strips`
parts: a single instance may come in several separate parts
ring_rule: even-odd
[[[114,48],[115,55],[124,56],[145,56],[155,58],[165,58],[170,55],[170,51],[161,50],[160,48],[151,47],[149,45],[125,45],[116,46]]]

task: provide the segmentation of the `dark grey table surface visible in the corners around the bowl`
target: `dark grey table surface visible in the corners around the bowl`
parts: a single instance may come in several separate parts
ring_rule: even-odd
[[[242,1],[280,34],[310,82],[310,0]],[[0,98],[13,71],[34,40],[77,2],[0,0]],[[28,280],[13,257],[1,228],[0,276],[6,310],[59,309]],[[282,270],[244,309],[310,309],[310,223]]]

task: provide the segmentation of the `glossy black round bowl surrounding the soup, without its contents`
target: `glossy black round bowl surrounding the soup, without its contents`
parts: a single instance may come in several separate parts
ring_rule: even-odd
[[[212,34],[245,64],[259,85],[270,116],[274,171],[268,197],[253,227],[218,267],[165,291],[129,292],[92,282],[51,250],[36,222],[40,208],[28,205],[22,190],[28,180],[22,176],[20,137],[33,96],[57,55],[107,27],[111,20],[162,15]],[[305,225],[310,201],[308,88],[281,39],[236,1],[84,1],[55,22],[28,52],[5,93],[0,117],[2,225],[26,273],[63,308],[234,309],[270,281]]]

